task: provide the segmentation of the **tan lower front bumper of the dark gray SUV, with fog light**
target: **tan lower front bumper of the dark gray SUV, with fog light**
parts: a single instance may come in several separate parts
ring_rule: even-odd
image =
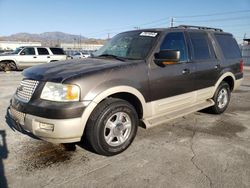
[[[83,126],[81,117],[70,119],[48,119],[24,114],[10,108],[8,116],[14,120],[22,132],[32,133],[36,137],[52,143],[72,143],[81,140]]]

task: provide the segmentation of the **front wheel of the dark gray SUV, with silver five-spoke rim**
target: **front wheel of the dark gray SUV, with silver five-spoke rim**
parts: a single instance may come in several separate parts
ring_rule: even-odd
[[[130,103],[109,98],[92,112],[86,127],[86,137],[96,153],[116,155],[133,142],[138,124],[138,115]]]

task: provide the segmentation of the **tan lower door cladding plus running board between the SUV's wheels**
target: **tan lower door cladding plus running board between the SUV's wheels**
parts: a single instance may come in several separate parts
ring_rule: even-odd
[[[200,89],[197,91],[161,99],[147,103],[151,114],[143,118],[146,128],[154,127],[177,117],[214,105],[211,100],[214,87]]]

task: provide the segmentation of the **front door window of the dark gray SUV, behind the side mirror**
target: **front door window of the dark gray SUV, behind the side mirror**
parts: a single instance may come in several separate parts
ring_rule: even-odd
[[[187,60],[186,42],[183,33],[169,33],[161,44],[161,50],[179,50],[180,61]]]

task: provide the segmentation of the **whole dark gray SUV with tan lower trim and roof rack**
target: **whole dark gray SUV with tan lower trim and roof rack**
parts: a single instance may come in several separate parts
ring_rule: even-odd
[[[53,143],[84,139],[115,155],[150,128],[201,109],[220,114],[243,79],[230,33],[199,26],[128,31],[92,58],[26,69],[9,114]]]

